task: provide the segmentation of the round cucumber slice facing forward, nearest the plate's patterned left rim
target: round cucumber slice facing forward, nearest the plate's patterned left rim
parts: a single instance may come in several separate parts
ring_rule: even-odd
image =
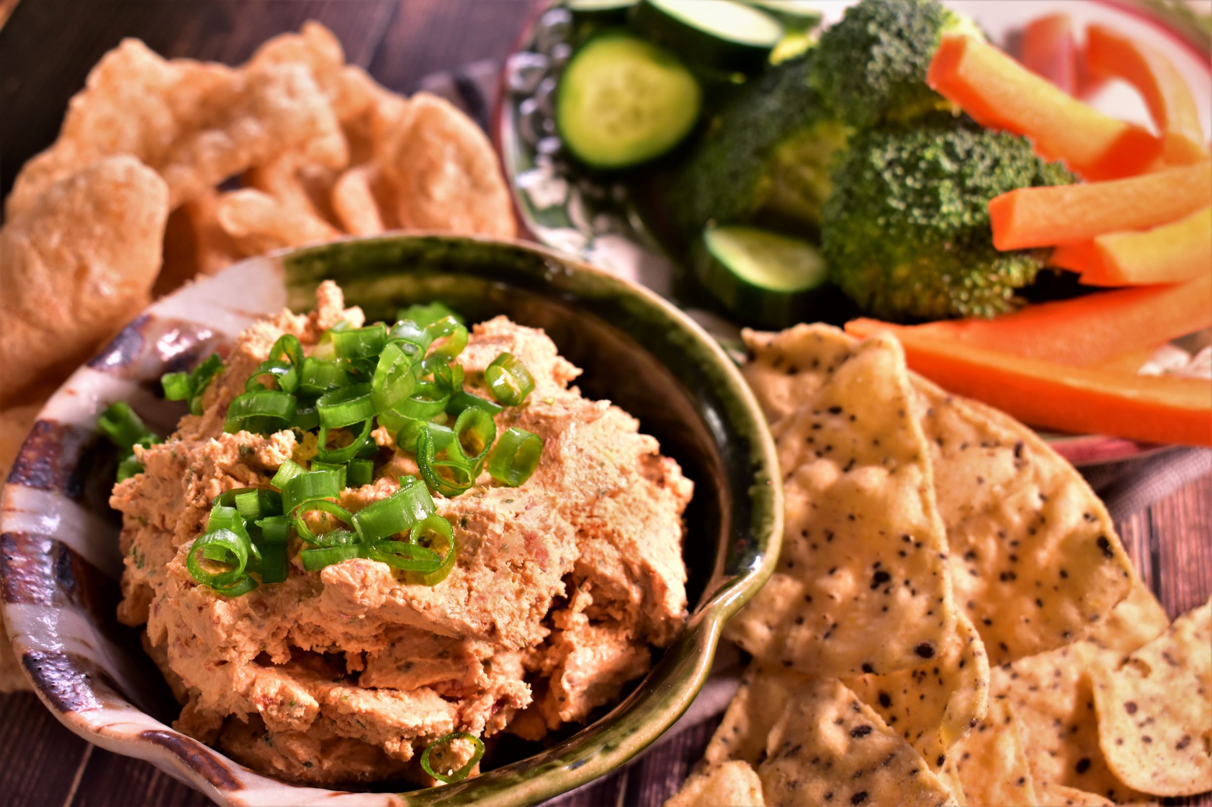
[[[627,168],[681,143],[703,108],[694,75],[669,51],[622,33],[572,55],[555,96],[560,138],[595,168]]]

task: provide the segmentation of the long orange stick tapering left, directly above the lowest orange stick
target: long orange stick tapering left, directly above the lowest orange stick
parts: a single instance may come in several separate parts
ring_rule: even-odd
[[[1212,325],[1212,274],[1187,284],[1124,288],[1036,303],[991,320],[941,320],[898,326],[851,320],[846,332],[916,334],[1058,365],[1094,367]],[[1142,360],[1143,361],[1143,360]],[[1139,365],[1138,365],[1139,366]]]

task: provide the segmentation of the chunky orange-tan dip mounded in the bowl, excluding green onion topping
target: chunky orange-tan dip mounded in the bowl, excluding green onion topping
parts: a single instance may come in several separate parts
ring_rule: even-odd
[[[292,538],[286,582],[223,597],[185,567],[212,499],[269,488],[284,462],[315,454],[315,436],[297,430],[224,434],[228,404],[280,336],[310,351],[342,320],[356,327],[364,316],[326,282],[310,315],[253,325],[202,413],[137,450],[144,473],[110,499],[122,513],[119,617],[147,625],[144,645],[183,703],[177,728],[295,782],[431,784],[418,761],[435,739],[538,738],[584,721],[647,671],[651,648],[686,618],[682,511],[693,485],[635,418],[570,387],[581,370],[542,331],[497,317],[474,328],[457,361],[468,391],[490,399],[485,368],[503,351],[525,364],[534,390],[496,425],[539,435],[542,462],[520,487],[484,473],[462,496],[434,494],[457,540],[450,576],[410,583],[367,559],[307,572]],[[339,497],[350,511],[417,473],[394,435],[372,436],[373,482]]]

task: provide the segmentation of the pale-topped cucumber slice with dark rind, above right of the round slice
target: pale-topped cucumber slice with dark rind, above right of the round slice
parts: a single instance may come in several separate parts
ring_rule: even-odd
[[[654,41],[718,70],[760,70],[783,38],[783,25],[734,0],[640,0],[636,28]]]

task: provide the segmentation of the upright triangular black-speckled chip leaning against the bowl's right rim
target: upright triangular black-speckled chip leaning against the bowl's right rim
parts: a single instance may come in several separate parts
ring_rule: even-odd
[[[774,425],[784,474],[779,565],[726,635],[767,664],[884,674],[955,631],[947,540],[901,345],[851,343]]]

